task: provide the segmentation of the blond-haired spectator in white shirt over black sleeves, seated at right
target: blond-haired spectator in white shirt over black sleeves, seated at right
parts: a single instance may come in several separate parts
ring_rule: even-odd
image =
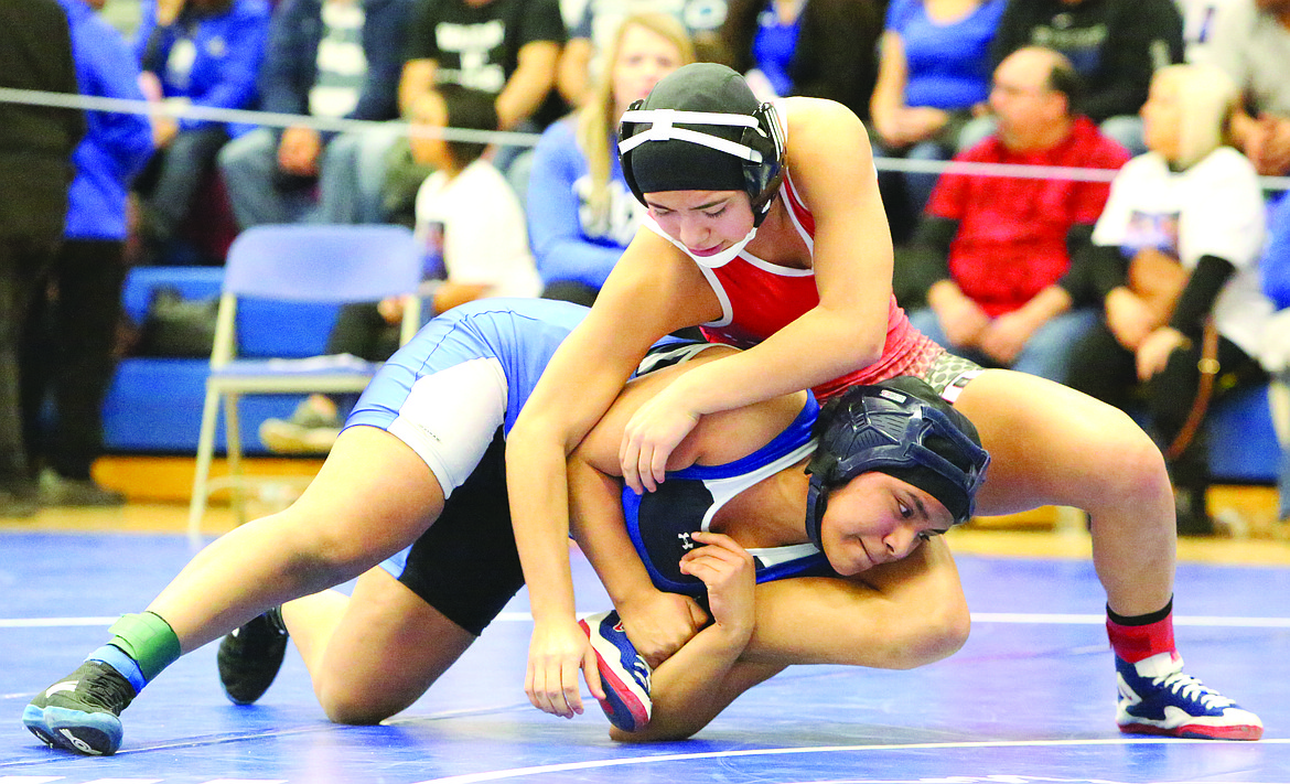
[[[1144,384],[1178,530],[1207,534],[1204,431],[1186,444],[1179,435],[1202,370],[1213,398],[1264,379],[1253,358],[1272,312],[1259,289],[1263,193],[1254,166],[1228,146],[1238,92],[1222,71],[1162,68],[1149,95],[1142,116],[1151,151],[1116,174],[1093,232],[1099,266],[1115,273],[1100,286],[1106,321],[1076,348],[1071,386],[1125,407]]]

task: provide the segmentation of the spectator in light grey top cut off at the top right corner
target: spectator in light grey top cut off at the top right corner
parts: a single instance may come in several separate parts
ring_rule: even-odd
[[[1209,55],[1242,92],[1232,141],[1259,174],[1290,174],[1290,0],[1231,0]]]

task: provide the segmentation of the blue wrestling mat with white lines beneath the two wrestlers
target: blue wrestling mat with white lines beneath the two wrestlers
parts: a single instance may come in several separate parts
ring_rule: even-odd
[[[961,556],[968,645],[909,672],[793,667],[695,739],[620,745],[592,701],[564,721],[524,695],[524,593],[412,708],[329,723],[294,649],[264,698],[235,707],[215,645],[125,712],[110,758],[46,749],[19,721],[40,689],[139,611],[191,553],[182,536],[0,533],[0,784],[1290,783],[1290,569],[1180,565],[1187,672],[1260,714],[1259,743],[1121,735],[1104,594],[1081,560]],[[575,561],[579,609],[606,609]]]

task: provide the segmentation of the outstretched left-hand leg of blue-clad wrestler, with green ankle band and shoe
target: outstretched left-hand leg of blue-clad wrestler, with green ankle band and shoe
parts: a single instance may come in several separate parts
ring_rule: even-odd
[[[288,509],[221,536],[112,638],[23,709],[52,747],[112,754],[120,713],[182,654],[284,601],[357,576],[414,542],[444,505],[426,463],[384,431],[344,431]]]

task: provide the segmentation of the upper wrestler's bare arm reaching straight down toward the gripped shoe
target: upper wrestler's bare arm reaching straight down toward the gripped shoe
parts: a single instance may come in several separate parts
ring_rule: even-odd
[[[525,690],[548,713],[580,713],[579,662],[595,667],[574,616],[565,459],[654,340],[717,313],[689,259],[648,230],[637,235],[507,436],[512,525],[534,618]]]

